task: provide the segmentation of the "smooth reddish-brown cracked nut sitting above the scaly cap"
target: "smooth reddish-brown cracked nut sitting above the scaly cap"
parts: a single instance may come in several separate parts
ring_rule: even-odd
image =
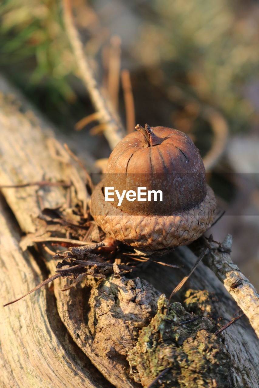
[[[137,187],[163,192],[163,200],[156,202],[131,202],[125,196],[120,209],[132,215],[168,215],[199,204],[207,192],[199,150],[183,132],[162,126],[151,129],[160,144],[147,147],[138,131],[127,135],[110,154],[104,185],[120,194],[137,192]],[[111,203],[117,206],[117,197]]]

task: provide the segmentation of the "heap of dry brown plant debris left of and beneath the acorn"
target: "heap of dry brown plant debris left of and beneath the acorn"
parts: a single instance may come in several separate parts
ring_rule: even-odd
[[[42,183],[46,184],[46,182]],[[29,293],[6,305],[24,298],[58,277],[66,277],[70,280],[70,283],[64,287],[63,290],[65,290],[76,287],[89,275],[99,279],[107,279],[112,274],[122,276],[138,270],[151,260],[154,261],[152,257],[138,255],[134,248],[107,237],[91,217],[89,208],[87,213],[84,213],[80,203],[73,207],[67,203],[58,208],[45,208],[33,221],[35,232],[23,237],[20,246],[25,251],[28,246],[33,246],[35,243],[42,244],[54,260],[59,260],[56,274]],[[59,251],[55,252],[53,250],[55,247]],[[60,247],[68,250],[60,251]],[[157,263],[179,267],[163,262]]]

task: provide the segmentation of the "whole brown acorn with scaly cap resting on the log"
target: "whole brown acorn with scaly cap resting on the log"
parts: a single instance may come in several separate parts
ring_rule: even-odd
[[[189,244],[217,211],[199,150],[176,129],[135,128],[110,154],[92,194],[93,218],[107,235],[142,251]]]

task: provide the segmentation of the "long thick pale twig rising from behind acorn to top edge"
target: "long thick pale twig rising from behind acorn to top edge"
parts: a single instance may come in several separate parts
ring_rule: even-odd
[[[98,111],[100,114],[101,123],[106,125],[104,135],[107,138],[111,149],[113,149],[115,145],[117,145],[117,143],[124,137],[125,131],[117,113],[112,107],[112,104],[109,103],[108,99],[105,99],[103,93],[101,93],[100,86],[97,84],[94,78],[91,66],[89,65],[87,57],[84,54],[84,48],[79,38],[79,34],[73,23],[70,0],[63,0],[63,17],[66,32],[68,34],[70,44],[75,54],[75,59],[77,61],[77,66],[80,71],[80,78],[84,82],[84,85],[89,92],[96,111]]]

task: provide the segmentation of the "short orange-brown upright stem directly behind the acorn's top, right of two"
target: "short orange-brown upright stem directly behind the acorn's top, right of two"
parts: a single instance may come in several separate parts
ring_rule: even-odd
[[[124,69],[121,71],[121,83],[124,94],[124,104],[126,110],[127,133],[135,130],[135,107],[131,87],[129,71]]]

